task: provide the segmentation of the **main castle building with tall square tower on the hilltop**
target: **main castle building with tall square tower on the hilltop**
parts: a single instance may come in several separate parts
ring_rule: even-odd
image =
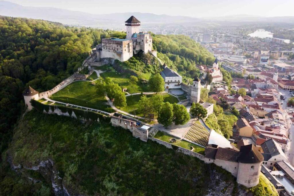
[[[101,58],[113,58],[119,61],[127,61],[139,51],[152,53],[157,56],[157,52],[152,50],[152,36],[146,32],[140,32],[140,21],[131,16],[125,21],[126,39],[105,38],[101,44],[96,46],[97,61]]]

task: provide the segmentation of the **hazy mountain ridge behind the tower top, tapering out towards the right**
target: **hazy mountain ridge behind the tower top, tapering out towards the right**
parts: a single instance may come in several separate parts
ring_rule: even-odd
[[[77,24],[91,26],[91,24],[121,25],[130,16],[134,15],[143,23],[185,23],[197,22],[200,19],[187,16],[156,15],[151,13],[112,13],[112,14],[89,14],[80,11],[70,11],[66,9],[51,7],[30,7],[0,1],[0,15],[12,17],[24,17],[33,19],[44,19],[61,22],[63,24]],[[123,19],[123,20],[122,20]],[[88,24],[88,25],[87,25]]]

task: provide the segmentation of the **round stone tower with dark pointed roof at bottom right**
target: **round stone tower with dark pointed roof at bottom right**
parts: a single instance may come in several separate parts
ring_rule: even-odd
[[[239,162],[237,182],[245,187],[258,185],[263,155],[254,145],[245,145],[241,146],[237,161]]]

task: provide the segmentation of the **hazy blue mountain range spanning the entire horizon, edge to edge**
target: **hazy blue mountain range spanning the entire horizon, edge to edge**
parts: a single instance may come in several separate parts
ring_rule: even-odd
[[[112,14],[89,14],[80,11],[70,11],[66,9],[51,7],[30,7],[11,3],[9,1],[0,1],[0,15],[12,17],[24,17],[33,19],[44,19],[60,22],[69,25],[92,26],[101,28],[120,28],[123,22],[134,15],[144,25],[148,24],[205,24],[216,21],[225,22],[261,22],[261,23],[291,23],[294,24],[294,16],[283,17],[260,17],[249,15],[234,15],[213,18],[193,18],[188,16],[169,16],[157,15],[151,13],[128,12]],[[123,20],[122,20],[123,19]]]

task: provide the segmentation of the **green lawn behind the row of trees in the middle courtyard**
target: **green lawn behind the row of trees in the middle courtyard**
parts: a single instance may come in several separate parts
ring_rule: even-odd
[[[147,97],[152,97],[154,95],[147,95]],[[164,102],[169,102],[169,103],[178,103],[178,99],[174,96],[171,96],[167,93],[162,94]],[[139,100],[141,98],[141,95],[131,95],[127,96],[127,106],[121,107],[121,110],[126,111],[128,113],[137,115],[137,116],[143,116],[142,111],[140,111],[139,108]],[[156,118],[156,116],[155,116]]]

